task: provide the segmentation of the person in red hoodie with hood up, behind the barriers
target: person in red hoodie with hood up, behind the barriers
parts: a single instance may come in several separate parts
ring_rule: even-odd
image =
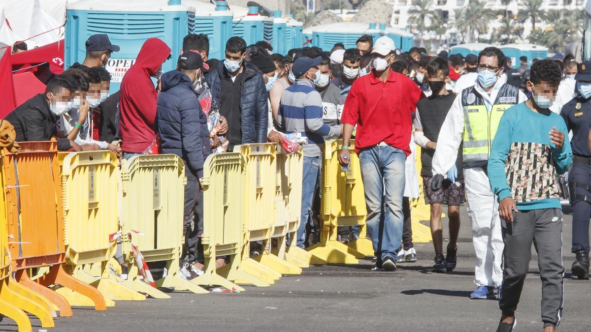
[[[135,63],[121,81],[119,134],[124,158],[144,152],[154,141],[157,92],[150,77],[158,77],[170,47],[158,38],[148,38]]]

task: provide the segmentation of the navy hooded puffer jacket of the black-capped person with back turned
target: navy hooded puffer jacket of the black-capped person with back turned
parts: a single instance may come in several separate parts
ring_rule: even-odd
[[[199,100],[189,77],[180,71],[164,73],[156,106],[156,124],[160,132],[160,149],[164,154],[183,158],[191,172],[202,177],[204,137],[202,119],[207,126]],[[209,147],[209,139],[207,139]]]

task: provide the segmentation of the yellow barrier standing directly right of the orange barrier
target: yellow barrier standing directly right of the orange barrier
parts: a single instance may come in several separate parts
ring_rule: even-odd
[[[64,243],[70,274],[97,288],[108,300],[144,301],[145,296],[109,279],[109,259],[119,230],[117,158],[111,151],[60,154]],[[92,265],[97,268],[92,269]],[[98,270],[98,273],[95,271]],[[91,305],[89,298],[58,289],[71,305]],[[113,301],[107,303],[114,305]]]

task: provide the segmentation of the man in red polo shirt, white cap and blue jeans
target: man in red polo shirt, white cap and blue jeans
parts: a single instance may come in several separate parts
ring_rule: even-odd
[[[424,96],[413,81],[390,69],[394,50],[391,38],[379,37],[372,49],[371,74],[353,83],[341,118],[345,126],[339,154],[340,164],[349,164],[349,139],[357,125],[355,152],[365,188],[367,225],[378,258],[376,268],[388,271],[396,269],[402,241],[404,162],[410,154],[411,112]]]

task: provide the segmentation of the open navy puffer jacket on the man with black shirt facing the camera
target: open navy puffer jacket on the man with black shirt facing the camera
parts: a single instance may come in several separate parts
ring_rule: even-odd
[[[217,70],[210,69],[206,79],[212,90],[213,102],[220,105],[222,96],[222,77],[226,75],[224,61],[219,61]],[[242,144],[267,142],[268,105],[267,89],[261,71],[245,61],[242,73],[242,93],[240,100]]]

